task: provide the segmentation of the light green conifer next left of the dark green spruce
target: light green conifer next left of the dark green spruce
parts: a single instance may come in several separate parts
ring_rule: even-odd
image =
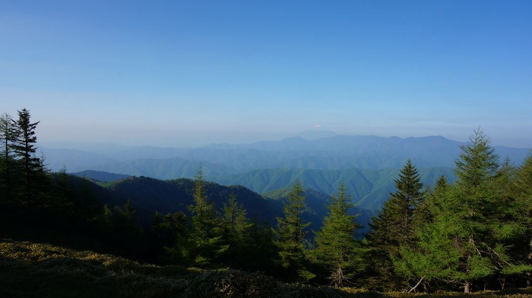
[[[329,271],[331,284],[340,287],[364,269],[361,243],[354,238],[361,226],[355,221],[356,216],[348,212],[354,205],[344,183],[340,184],[338,195],[332,195],[331,199],[329,214],[314,238],[317,244],[314,255]]]

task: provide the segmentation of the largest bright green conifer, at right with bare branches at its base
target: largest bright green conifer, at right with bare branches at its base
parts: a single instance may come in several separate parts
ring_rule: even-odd
[[[461,147],[456,184],[446,186],[437,204],[430,204],[434,220],[418,233],[417,249],[402,250],[406,261],[401,268],[427,280],[460,281],[466,293],[475,280],[526,269],[507,251],[521,229],[500,214],[501,193],[494,184],[497,155],[480,130],[471,143]]]

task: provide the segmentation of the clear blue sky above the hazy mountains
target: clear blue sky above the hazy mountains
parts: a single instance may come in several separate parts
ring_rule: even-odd
[[[532,147],[532,1],[3,1],[0,109],[43,141],[191,146],[480,125]]]

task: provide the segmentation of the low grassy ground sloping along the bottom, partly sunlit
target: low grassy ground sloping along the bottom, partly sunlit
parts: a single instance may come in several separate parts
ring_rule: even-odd
[[[280,283],[260,273],[155,266],[91,251],[0,239],[0,297],[458,297]],[[470,297],[531,297],[530,289]]]

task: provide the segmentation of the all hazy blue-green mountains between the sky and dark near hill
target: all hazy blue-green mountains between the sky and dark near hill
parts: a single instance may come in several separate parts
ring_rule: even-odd
[[[198,148],[130,147],[112,144],[40,144],[52,170],[96,171],[100,181],[116,177],[101,172],[158,179],[193,178],[202,166],[206,177],[222,185],[243,185],[267,193],[294,184],[330,195],[345,182],[360,208],[378,210],[393,192],[397,171],[407,159],[417,165],[423,182],[439,176],[454,180],[454,161],[464,143],[442,136],[377,137],[310,131],[279,141],[212,144]],[[320,134],[332,135],[313,139]],[[302,134],[304,135],[304,134]],[[48,146],[48,147],[47,147]],[[527,148],[495,146],[496,152],[519,165]],[[99,172],[99,173],[98,173]],[[78,173],[79,175],[79,173]]]

